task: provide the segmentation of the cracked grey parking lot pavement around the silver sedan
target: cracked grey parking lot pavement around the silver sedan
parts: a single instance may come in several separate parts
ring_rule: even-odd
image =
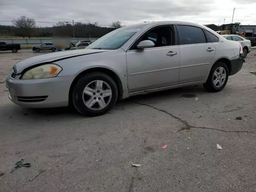
[[[256,50],[221,92],[199,85],[136,96],[93,118],[8,100],[12,66],[38,54],[0,52],[1,192],[255,191]],[[32,166],[10,173],[21,158]]]

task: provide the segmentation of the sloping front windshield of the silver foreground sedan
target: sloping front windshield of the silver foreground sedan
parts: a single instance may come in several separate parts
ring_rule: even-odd
[[[87,46],[86,49],[118,49],[144,26],[146,24],[119,28],[99,38]]]

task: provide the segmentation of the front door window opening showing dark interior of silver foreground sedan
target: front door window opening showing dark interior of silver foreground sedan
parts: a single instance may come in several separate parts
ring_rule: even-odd
[[[156,27],[148,32],[144,33],[136,42],[132,45],[130,50],[136,50],[136,46],[143,40],[152,41],[154,47],[164,47],[174,45],[174,31],[171,26]]]

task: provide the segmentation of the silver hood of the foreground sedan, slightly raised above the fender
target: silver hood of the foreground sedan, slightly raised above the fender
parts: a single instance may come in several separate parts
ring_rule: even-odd
[[[87,54],[96,54],[100,52],[106,52],[109,50],[98,50],[98,49],[80,49],[80,50],[69,50],[69,51],[60,51],[55,53],[49,53],[44,54],[40,56],[31,57],[25,60],[22,60],[18,62],[14,67],[13,70],[15,73],[19,74],[24,69],[42,64],[42,63],[49,63],[49,62],[55,62],[66,58],[81,56],[81,55],[87,55]]]

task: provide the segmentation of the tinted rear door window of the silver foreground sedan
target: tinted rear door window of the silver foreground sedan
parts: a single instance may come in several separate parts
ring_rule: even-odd
[[[206,43],[204,32],[199,27],[178,25],[182,45]]]

